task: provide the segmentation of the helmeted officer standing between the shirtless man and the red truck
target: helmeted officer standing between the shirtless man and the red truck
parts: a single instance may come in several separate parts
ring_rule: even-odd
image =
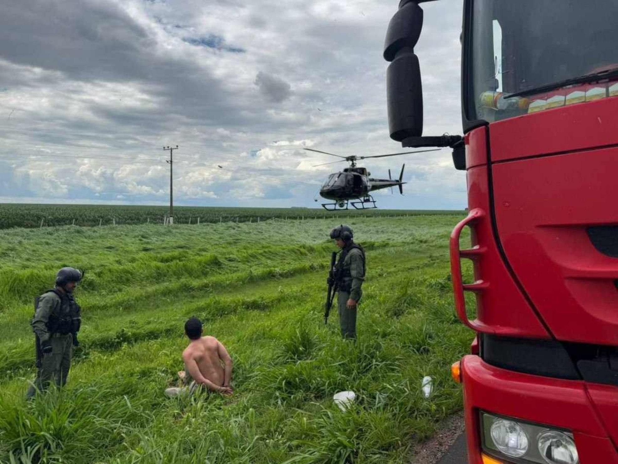
[[[356,310],[363,294],[360,287],[365,280],[365,250],[354,243],[353,236],[352,229],[344,225],[331,231],[331,238],[341,248],[335,269],[341,335],[355,340]]]

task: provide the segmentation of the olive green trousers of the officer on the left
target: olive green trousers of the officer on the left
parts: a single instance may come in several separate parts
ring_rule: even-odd
[[[34,385],[30,385],[26,393],[27,398],[32,398],[37,390],[40,392],[47,390],[52,379],[56,380],[58,387],[67,383],[73,357],[73,336],[70,333],[67,335],[55,333],[49,338],[49,342],[51,342],[51,353],[43,354]]]

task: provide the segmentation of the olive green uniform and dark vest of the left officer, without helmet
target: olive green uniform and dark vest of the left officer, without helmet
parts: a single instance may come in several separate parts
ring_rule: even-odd
[[[32,329],[41,344],[46,341],[51,343],[51,353],[41,353],[36,380],[26,393],[28,398],[33,397],[36,390],[42,392],[48,389],[52,379],[59,387],[66,384],[80,322],[80,307],[71,294],[61,297],[48,291],[41,295]]]

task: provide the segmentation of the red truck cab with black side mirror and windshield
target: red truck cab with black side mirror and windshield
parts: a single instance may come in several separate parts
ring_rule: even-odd
[[[618,2],[464,1],[464,136],[423,137],[426,1],[401,0],[389,25],[389,129],[467,171],[451,269],[476,333],[453,367],[468,460],[618,463]]]

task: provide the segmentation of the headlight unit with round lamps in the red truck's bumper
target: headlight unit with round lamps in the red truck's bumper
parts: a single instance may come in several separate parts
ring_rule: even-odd
[[[566,430],[481,411],[483,452],[497,459],[538,464],[579,464],[573,435]],[[536,444],[536,446],[535,446]]]

